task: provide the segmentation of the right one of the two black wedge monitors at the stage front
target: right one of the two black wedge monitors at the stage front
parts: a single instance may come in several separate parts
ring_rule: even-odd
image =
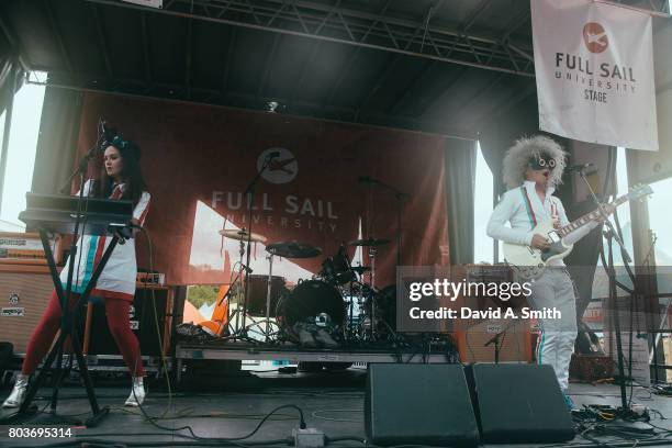
[[[483,443],[546,444],[574,438],[572,418],[550,366],[471,366]]]

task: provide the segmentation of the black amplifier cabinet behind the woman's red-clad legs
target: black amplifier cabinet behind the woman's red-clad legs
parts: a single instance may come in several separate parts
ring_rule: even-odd
[[[133,306],[130,311],[131,328],[141,345],[141,355],[143,356],[159,356],[161,352],[161,346],[159,346],[158,335],[161,335],[161,345],[164,344],[164,337],[166,337],[166,307],[168,304],[168,290],[156,289],[154,296],[156,298],[156,316],[157,323],[154,316],[154,305],[152,301],[152,292],[144,291],[138,288],[133,299]],[[170,310],[168,310],[170,313]],[[86,320],[87,305],[82,310],[82,316]],[[83,335],[85,323],[80,323],[81,334]],[[83,337],[82,337],[83,340]],[[93,306],[93,313],[90,322],[90,343],[88,355],[120,355],[119,347],[112,333],[108,327],[108,317],[105,315],[105,306],[102,302],[97,303]]]

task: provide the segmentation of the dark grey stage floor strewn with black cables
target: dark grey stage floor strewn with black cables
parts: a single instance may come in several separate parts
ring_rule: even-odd
[[[164,382],[150,387],[144,411],[152,416],[172,416],[173,418],[157,421],[157,424],[168,429],[191,426],[200,437],[242,437],[249,434],[268,412],[277,406],[294,404],[303,410],[309,427],[317,428],[332,438],[354,438],[354,440],[337,441],[329,446],[362,447],[363,444],[356,439],[363,440],[366,437],[362,412],[365,379],[366,370],[356,367],[345,371],[320,373],[284,374],[271,371],[254,374],[242,373],[233,378],[211,376],[204,381],[200,380],[198,384],[186,383],[181,390],[173,392],[171,403]],[[108,444],[143,441],[166,444],[165,446],[169,446],[170,441],[189,441],[188,438],[178,436],[178,434],[188,435],[187,430],[171,433],[167,429],[159,429],[146,422],[139,410],[123,407],[130,388],[125,385],[125,381],[117,382],[120,384],[116,385],[111,384],[109,380],[98,382],[99,401],[101,405],[109,405],[111,413],[98,427],[74,427],[72,435],[76,435],[80,441],[85,441],[83,439],[107,440]],[[570,391],[578,405],[619,403],[619,389],[614,385],[572,384]],[[8,393],[9,390],[2,390],[0,397],[3,400]],[[46,405],[43,397],[47,394],[49,391],[46,389],[38,394],[41,400],[36,403],[41,407]],[[87,413],[88,402],[81,387],[75,384],[65,387],[61,389],[60,396],[58,406],[60,414]],[[652,394],[649,389],[634,388],[632,401],[648,408],[657,410],[665,418],[672,418],[672,397]],[[7,414],[7,410],[1,411],[1,415]],[[264,440],[288,438],[291,436],[292,428],[298,426],[296,415],[295,410],[283,408],[267,421],[257,434],[240,443],[256,441],[259,444]],[[672,419],[661,419],[660,415],[653,416],[656,419],[651,422],[652,424],[672,430]],[[412,415],[408,416],[408,424],[413,425]],[[26,422],[22,426],[29,427],[31,423]],[[2,447],[43,446],[68,440],[66,438],[10,439],[8,437],[10,427],[0,427],[2,433],[0,446]],[[672,446],[672,437],[670,439],[670,443],[661,446]],[[600,440],[612,444],[625,441],[617,438],[601,438]],[[74,437],[69,441],[74,441]],[[552,444],[552,446],[571,447],[590,444],[589,440],[576,436],[571,443]],[[632,444],[634,441],[629,441],[624,446],[632,446]],[[503,448],[549,445],[551,444],[482,446]],[[264,444],[264,446],[273,445]],[[277,444],[277,446],[287,445]]]

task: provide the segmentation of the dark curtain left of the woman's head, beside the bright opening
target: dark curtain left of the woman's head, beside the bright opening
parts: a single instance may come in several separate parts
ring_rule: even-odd
[[[83,93],[47,87],[32,191],[56,194],[74,169]]]

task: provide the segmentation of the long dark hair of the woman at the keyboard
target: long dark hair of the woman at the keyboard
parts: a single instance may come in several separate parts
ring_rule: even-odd
[[[122,158],[122,177],[126,183],[122,199],[128,199],[133,201],[133,205],[136,205],[143,191],[147,190],[147,183],[143,177],[143,170],[139,164],[141,149],[133,142],[124,139],[119,135],[110,142],[104,142],[102,144],[103,150],[109,146],[114,146]],[[93,195],[96,198],[110,198],[114,180],[108,176],[104,164],[100,169],[98,180],[99,181],[93,186]]]

